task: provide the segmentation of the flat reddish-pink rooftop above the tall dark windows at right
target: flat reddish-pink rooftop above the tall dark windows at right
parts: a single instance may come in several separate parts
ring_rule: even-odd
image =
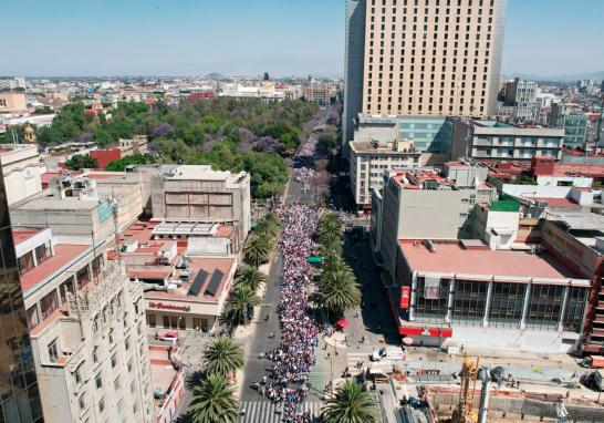
[[[398,240],[413,270],[424,274],[476,275],[477,279],[492,276],[507,278],[575,279],[577,276],[549,254],[523,251],[465,249],[460,244],[435,244],[430,252],[421,243]]]

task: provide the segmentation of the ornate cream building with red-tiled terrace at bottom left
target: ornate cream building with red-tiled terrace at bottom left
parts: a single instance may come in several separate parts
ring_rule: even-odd
[[[48,227],[13,238],[44,419],[152,422],[143,287],[107,262],[110,239],[67,244]]]

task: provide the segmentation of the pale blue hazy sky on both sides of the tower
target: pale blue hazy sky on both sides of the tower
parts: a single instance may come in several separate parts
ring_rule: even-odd
[[[344,1],[0,0],[0,75],[341,74]],[[503,73],[604,71],[603,18],[509,0]]]

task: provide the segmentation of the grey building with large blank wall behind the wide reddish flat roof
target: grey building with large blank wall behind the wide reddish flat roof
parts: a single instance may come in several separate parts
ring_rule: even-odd
[[[383,189],[374,189],[372,198],[372,226],[379,228],[373,230],[373,248],[384,267],[394,272],[398,239],[471,237],[475,205],[497,198],[487,175],[486,167],[461,163],[451,178],[425,168],[385,174]]]

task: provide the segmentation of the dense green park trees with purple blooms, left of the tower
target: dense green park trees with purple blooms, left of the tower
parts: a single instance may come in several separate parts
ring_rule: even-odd
[[[153,155],[163,163],[249,172],[257,198],[283,194],[288,171],[282,157],[309,136],[312,126],[306,123],[320,113],[315,104],[299,100],[262,103],[226,97],[169,106],[159,101],[150,107],[119,102],[111,110],[111,118],[85,110],[76,101],[63,107],[52,125],[37,127],[40,145],[94,141],[105,147],[118,138],[147,135]],[[22,140],[24,126],[15,128]],[[10,134],[0,134],[0,143],[12,143]]]

